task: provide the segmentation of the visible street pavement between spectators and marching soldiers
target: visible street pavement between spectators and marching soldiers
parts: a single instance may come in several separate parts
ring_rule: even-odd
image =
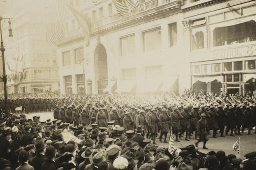
[[[31,113],[26,114],[27,119],[33,119],[33,116],[40,116],[40,121],[46,121],[46,119],[53,120],[53,113],[52,112],[44,112],[44,113]],[[212,131],[211,131],[212,134]],[[217,135],[218,138],[212,138],[212,135],[209,135],[209,141],[206,143],[206,147],[208,149],[202,149],[203,142],[200,142],[198,145],[198,149],[200,152],[208,153],[209,151],[219,151],[223,150],[225,151],[226,155],[228,154],[235,154],[237,158],[244,158],[244,155],[251,152],[256,151],[256,134],[254,134],[254,131],[252,131],[252,135],[247,135],[247,131],[244,131],[244,134],[242,136],[227,136],[227,137],[219,137],[220,134]],[[168,134],[169,139],[169,134]],[[233,144],[238,140],[240,137],[240,155],[237,153],[237,151],[232,150]],[[169,140],[167,140],[169,141]],[[168,143],[162,143],[159,142],[158,138],[156,140],[157,144],[159,146],[168,147]],[[191,137],[190,141],[185,141],[185,137],[182,137],[180,139],[180,142],[174,141],[175,147],[186,147],[187,145],[194,144],[197,142],[197,140],[194,139],[194,135]]]

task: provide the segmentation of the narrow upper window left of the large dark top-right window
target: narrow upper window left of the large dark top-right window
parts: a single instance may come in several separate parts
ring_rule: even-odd
[[[204,48],[205,26],[192,28],[192,50]]]

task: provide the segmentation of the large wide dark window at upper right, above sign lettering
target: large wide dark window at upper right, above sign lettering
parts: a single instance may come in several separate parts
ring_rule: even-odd
[[[213,47],[255,40],[256,22],[254,20],[232,26],[217,27],[213,30]]]

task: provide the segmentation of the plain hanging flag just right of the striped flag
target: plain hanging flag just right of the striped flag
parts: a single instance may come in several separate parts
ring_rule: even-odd
[[[90,18],[83,14],[82,12],[77,11],[70,5],[68,5],[70,11],[75,17],[78,25],[83,29],[83,35],[85,37],[86,46],[90,44],[90,33],[91,33],[91,21]]]

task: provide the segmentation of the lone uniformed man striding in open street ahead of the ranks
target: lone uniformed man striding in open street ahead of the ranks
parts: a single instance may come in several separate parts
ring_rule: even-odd
[[[199,140],[195,143],[198,147],[199,142],[204,142],[203,149],[208,149],[205,145],[209,140],[208,133],[208,122],[206,120],[206,114],[201,114],[201,119],[197,122],[197,133],[199,135]]]

